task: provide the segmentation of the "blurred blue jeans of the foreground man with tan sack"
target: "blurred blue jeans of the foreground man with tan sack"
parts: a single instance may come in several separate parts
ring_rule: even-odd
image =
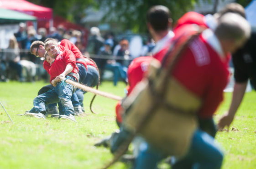
[[[157,163],[164,155],[151,145],[141,144],[140,153],[135,161],[134,169],[156,169]],[[191,146],[185,158],[193,164],[192,169],[220,169],[223,154],[214,143],[214,138],[204,131],[197,129],[193,135]],[[173,169],[191,169],[191,165],[184,162]]]

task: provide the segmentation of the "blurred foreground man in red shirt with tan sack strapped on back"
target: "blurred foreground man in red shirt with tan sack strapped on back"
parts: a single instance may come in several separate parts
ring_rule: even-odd
[[[149,13],[156,11],[153,7]],[[243,17],[227,13],[214,31],[179,28],[170,45],[153,55],[158,61],[152,61],[148,78],[122,103],[126,115],[116,139],[120,144],[134,132],[146,139],[135,169],[155,169],[166,155],[186,155],[198,169],[220,169],[223,154],[214,138],[199,129],[197,118],[212,117],[222,101],[228,54],[246,42],[250,31]]]

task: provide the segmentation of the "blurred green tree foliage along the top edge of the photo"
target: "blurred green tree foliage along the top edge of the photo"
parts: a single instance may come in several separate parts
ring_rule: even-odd
[[[53,9],[54,15],[60,15],[72,22],[81,24],[85,16],[84,10],[94,7],[103,10],[103,22],[119,23],[125,30],[146,32],[146,12],[153,5],[165,5],[172,13],[173,21],[185,12],[193,10],[193,5],[199,1],[211,1],[215,5],[221,0],[29,0],[37,5]],[[247,6],[251,0],[236,0]]]

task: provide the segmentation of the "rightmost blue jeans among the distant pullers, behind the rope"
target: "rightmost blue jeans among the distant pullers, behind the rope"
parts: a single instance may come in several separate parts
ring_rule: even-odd
[[[83,81],[83,84],[89,86],[89,87],[94,87],[98,84],[99,82],[99,72],[98,70],[91,65],[87,65],[87,75]],[[86,91],[83,91],[81,89],[77,89],[75,91],[75,94],[78,97],[80,105],[83,107],[83,101],[84,101],[84,94],[87,93]]]

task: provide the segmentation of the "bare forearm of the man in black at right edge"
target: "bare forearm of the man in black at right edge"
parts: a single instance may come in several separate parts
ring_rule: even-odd
[[[229,128],[230,124],[232,123],[235,117],[235,113],[238,107],[240,106],[242,99],[244,98],[246,86],[247,81],[244,83],[235,83],[230,109],[219,119],[219,129],[223,129],[225,126]]]

